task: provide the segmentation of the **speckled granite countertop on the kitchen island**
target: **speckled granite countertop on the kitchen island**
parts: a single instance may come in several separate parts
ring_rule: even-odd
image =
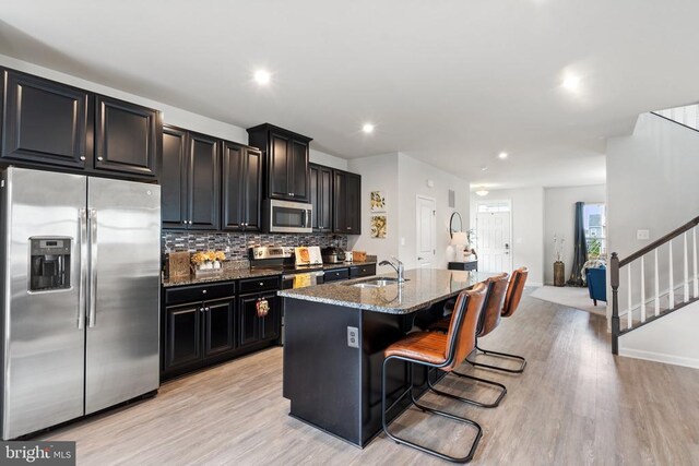
[[[381,288],[360,288],[353,284],[376,279],[363,277],[347,282],[312,286],[309,288],[285,289],[277,295],[284,298],[324,302],[347,308],[390,314],[407,314],[427,308],[459,295],[494,274],[475,271],[447,271],[437,268],[414,268],[405,272],[404,284],[391,284]],[[395,277],[395,274],[386,275]]]

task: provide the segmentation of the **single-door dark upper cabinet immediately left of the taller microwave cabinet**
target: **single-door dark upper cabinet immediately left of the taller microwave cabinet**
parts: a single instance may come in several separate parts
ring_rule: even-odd
[[[223,144],[224,230],[260,229],[262,154],[253,147]]]

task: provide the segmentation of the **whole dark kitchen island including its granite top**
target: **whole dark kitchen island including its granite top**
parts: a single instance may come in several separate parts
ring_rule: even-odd
[[[279,292],[284,299],[284,397],[289,415],[365,446],[381,431],[383,350],[413,330],[415,315],[490,274],[418,268],[403,284],[376,277]],[[380,277],[379,277],[380,278]],[[394,278],[394,276],[391,276]],[[389,367],[389,405],[407,386],[407,366]],[[426,373],[416,370],[426,385]],[[424,390],[424,387],[423,387]],[[395,417],[406,407],[389,414]]]

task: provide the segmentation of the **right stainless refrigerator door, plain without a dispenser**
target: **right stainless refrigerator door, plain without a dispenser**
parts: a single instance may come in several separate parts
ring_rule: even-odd
[[[90,178],[85,414],[159,384],[161,188]]]

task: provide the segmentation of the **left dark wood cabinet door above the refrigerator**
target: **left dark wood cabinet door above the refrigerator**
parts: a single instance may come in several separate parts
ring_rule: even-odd
[[[2,152],[10,162],[84,168],[92,164],[94,96],[86,91],[2,71]]]

